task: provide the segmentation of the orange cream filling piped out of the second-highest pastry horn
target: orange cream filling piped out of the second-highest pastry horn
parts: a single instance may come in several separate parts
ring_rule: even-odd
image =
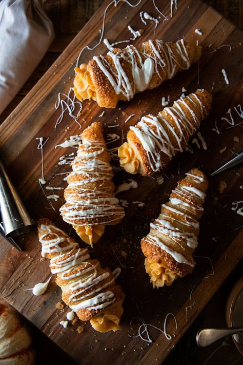
[[[137,174],[140,167],[140,162],[136,158],[135,151],[127,142],[118,148],[118,156],[120,166],[122,166],[130,174]]]

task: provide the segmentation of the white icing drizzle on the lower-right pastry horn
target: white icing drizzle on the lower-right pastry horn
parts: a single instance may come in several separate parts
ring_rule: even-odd
[[[190,173],[186,175],[190,176],[195,184],[200,184],[204,181],[202,177],[192,175]],[[189,182],[189,180],[187,180],[187,182]],[[172,191],[172,194],[173,198],[170,197],[169,202],[162,205],[164,209],[161,210],[159,217],[150,224],[152,232],[150,231],[145,240],[146,242],[163,249],[177,262],[193,267],[193,263],[189,262],[182,254],[177,253],[172,248],[168,247],[164,242],[161,242],[159,238],[155,237],[153,234],[153,229],[158,231],[160,235],[170,237],[176,244],[180,246],[180,248],[184,249],[184,247],[180,244],[181,240],[183,240],[186,242],[188,247],[195,249],[197,247],[197,237],[192,231],[198,229],[198,222],[193,218],[194,214],[192,212],[193,210],[195,210],[196,214],[202,212],[202,203],[205,200],[206,194],[198,187],[191,185],[182,185],[180,187],[177,186]],[[183,212],[177,210],[177,206],[180,209],[183,209]],[[185,221],[175,219],[171,216],[169,216],[168,220],[168,215],[166,212],[167,209],[171,210],[171,212],[175,213],[176,215],[183,216]],[[186,212],[188,212],[188,214]],[[179,225],[177,223],[179,223]],[[184,229],[179,228],[180,225],[183,225]],[[185,230],[185,226],[188,227],[188,230]]]

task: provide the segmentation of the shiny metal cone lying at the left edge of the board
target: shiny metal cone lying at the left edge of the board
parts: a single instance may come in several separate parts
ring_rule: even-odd
[[[0,161],[0,209],[6,237],[27,233],[35,222],[30,218]]]

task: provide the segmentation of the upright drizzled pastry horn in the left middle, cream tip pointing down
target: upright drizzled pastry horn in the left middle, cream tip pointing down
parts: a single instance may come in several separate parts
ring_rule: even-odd
[[[124,209],[115,198],[113,170],[106,149],[102,124],[94,122],[82,135],[82,144],[72,162],[64,191],[66,203],[60,208],[65,222],[72,224],[79,237],[91,246],[103,235],[105,225],[115,225]]]

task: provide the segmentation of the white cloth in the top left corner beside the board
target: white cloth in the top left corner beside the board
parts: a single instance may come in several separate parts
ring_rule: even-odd
[[[0,0],[0,114],[53,39],[52,23],[38,0]]]

